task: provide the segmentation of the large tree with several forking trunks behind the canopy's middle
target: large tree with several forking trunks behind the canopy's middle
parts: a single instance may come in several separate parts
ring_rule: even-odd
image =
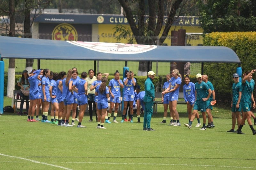
[[[138,44],[155,45],[156,41],[159,41],[159,45],[164,42],[176,18],[179,17],[182,12],[186,11],[184,10],[184,8],[188,6],[188,3],[194,2],[189,0],[148,0],[147,2],[144,0],[118,1],[125,11],[124,15],[127,18],[128,23],[131,27],[134,41],[136,41]],[[167,5],[165,6],[165,4]],[[166,24],[163,25],[165,14],[167,14],[168,17]],[[148,15],[147,23],[145,22],[146,15]],[[137,18],[137,23],[134,18]],[[164,28],[164,30],[163,33],[160,35],[162,27]],[[123,31],[121,28],[119,33],[125,33],[125,31]],[[158,39],[159,36],[160,38]],[[147,75],[147,61],[139,63],[138,75]]]

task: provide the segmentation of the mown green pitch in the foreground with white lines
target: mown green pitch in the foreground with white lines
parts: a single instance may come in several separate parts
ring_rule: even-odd
[[[107,129],[96,129],[96,122],[88,122],[88,113],[82,122],[87,128],[27,122],[27,116],[4,113],[0,116],[0,167],[256,169],[255,136],[248,125],[243,128],[245,135],[227,133],[231,129],[228,109],[215,106],[212,110],[215,128],[206,130],[194,127],[196,121],[192,129],[183,126],[188,122],[186,105],[178,105],[177,109],[182,126],[173,127],[159,123],[163,119],[163,107],[158,106],[158,114],[151,120],[151,127],[156,131],[143,131],[143,124],[135,123],[136,116],[134,123],[104,124]],[[119,113],[117,121],[120,120]]]

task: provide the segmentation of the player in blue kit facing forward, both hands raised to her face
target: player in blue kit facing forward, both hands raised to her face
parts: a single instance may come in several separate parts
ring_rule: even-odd
[[[131,123],[133,123],[133,101],[134,101],[134,90],[133,86],[136,85],[136,80],[133,78],[134,73],[132,71],[127,72],[126,78],[124,78],[124,89],[123,89],[123,101],[124,101],[124,109],[123,109],[123,115],[122,115],[122,120],[121,123],[124,122],[124,117],[126,114],[126,108],[129,102],[129,109],[131,113]]]

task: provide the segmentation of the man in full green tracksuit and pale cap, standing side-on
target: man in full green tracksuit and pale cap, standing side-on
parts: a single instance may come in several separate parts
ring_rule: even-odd
[[[153,85],[153,81],[155,78],[154,71],[148,72],[148,78],[145,81],[145,112],[144,112],[144,122],[143,122],[143,130],[147,131],[155,131],[154,129],[150,128],[150,121],[151,116],[153,115],[153,105],[155,99],[155,86]]]

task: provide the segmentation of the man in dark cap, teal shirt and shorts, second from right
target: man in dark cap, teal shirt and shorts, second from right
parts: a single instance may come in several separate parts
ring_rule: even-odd
[[[232,85],[232,128],[227,132],[237,132],[235,131],[236,119],[237,119],[237,129],[239,128],[241,122],[241,96],[242,96],[242,83],[239,81],[239,75],[237,73],[233,74],[234,83]]]

